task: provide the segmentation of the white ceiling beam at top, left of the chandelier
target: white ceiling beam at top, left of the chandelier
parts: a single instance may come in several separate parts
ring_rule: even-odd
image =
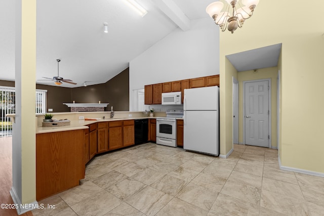
[[[152,0],[183,31],[190,29],[190,20],[173,0]]]

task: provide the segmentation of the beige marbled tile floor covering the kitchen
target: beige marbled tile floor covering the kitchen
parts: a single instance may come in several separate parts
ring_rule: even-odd
[[[80,186],[33,215],[324,215],[324,178],[280,170],[277,150],[223,159],[152,143],[95,157]]]

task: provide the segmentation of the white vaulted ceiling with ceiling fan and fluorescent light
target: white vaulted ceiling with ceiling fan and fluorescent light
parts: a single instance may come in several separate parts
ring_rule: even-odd
[[[141,17],[126,0],[38,0],[36,23],[36,80],[59,75],[79,87],[103,83],[129,62],[190,20],[207,18],[215,0],[137,0],[148,13]],[[15,79],[13,0],[0,3],[0,79]],[[104,33],[103,23],[108,23]],[[211,19],[212,22],[212,19]],[[216,26],[215,26],[216,27]],[[54,85],[53,81],[36,81]]]

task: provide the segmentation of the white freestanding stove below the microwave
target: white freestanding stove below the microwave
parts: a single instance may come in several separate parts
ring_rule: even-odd
[[[156,117],[156,144],[177,147],[177,120],[183,117],[182,109],[169,109],[167,117]]]

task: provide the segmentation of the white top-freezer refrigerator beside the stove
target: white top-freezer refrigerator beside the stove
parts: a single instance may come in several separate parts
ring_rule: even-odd
[[[219,156],[219,88],[184,90],[183,149]]]

